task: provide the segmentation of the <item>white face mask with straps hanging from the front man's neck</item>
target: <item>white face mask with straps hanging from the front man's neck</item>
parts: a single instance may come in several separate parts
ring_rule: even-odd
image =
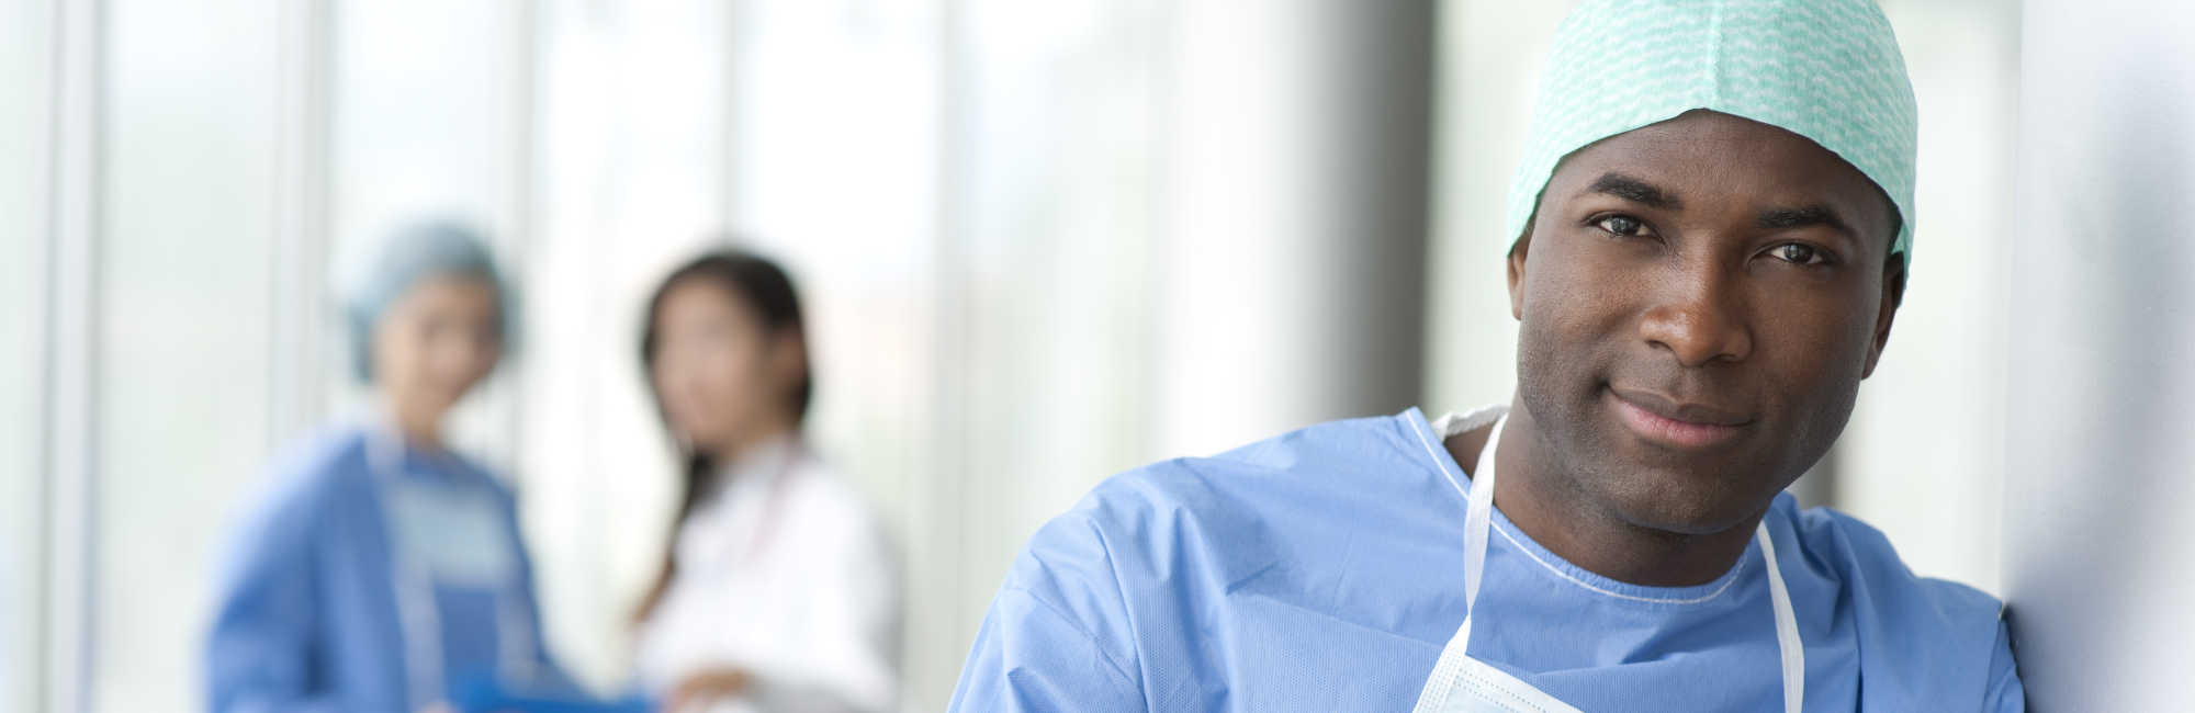
[[[1501,443],[1504,423],[1508,423],[1508,415],[1495,419],[1486,448],[1479,450],[1479,465],[1471,472],[1471,505],[1464,509],[1464,623],[1440,649],[1440,663],[1425,680],[1414,713],[1578,713],[1576,706],[1468,654],[1471,621],[1479,614],[1479,584],[1486,573],[1486,535],[1493,531],[1495,448]],[[1791,612],[1791,592],[1785,588],[1782,570],[1776,568],[1776,542],[1769,540],[1767,522],[1754,531],[1754,537],[1760,540],[1760,557],[1767,559],[1769,601],[1776,608],[1785,713],[1798,713],[1806,698],[1806,652],[1798,641],[1798,616]]]

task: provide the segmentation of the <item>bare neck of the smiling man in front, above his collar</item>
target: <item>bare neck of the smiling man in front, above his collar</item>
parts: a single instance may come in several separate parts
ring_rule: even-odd
[[[1457,434],[1449,439],[1449,452],[1457,463],[1477,463],[1486,434]],[[1501,474],[1495,507],[1541,546],[1594,575],[1640,586],[1699,586],[1730,573],[1752,542],[1758,518],[1706,535],[1624,522],[1565,474],[1539,469],[1558,461],[1523,404],[1512,404],[1495,452]]]

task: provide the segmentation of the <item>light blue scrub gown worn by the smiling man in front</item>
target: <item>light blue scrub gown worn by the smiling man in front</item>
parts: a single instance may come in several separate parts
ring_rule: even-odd
[[[1411,408],[1102,483],[1014,562],[953,711],[1409,711],[1464,619],[1464,469]],[[1493,513],[1471,654],[1583,711],[1780,711],[1758,540],[1716,581],[1563,562]],[[1778,496],[1806,711],[2022,711],[2002,606]]]

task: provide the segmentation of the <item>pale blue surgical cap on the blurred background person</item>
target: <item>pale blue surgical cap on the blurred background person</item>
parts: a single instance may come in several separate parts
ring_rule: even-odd
[[[470,276],[496,287],[496,333],[509,353],[516,336],[511,329],[516,298],[479,230],[450,219],[408,224],[389,235],[362,268],[351,274],[342,296],[351,373],[360,382],[373,382],[373,327],[413,287],[441,276]]]

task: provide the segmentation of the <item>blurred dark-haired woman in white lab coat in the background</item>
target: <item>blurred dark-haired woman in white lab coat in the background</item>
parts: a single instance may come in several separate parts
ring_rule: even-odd
[[[814,375],[781,268],[716,250],[648,301],[641,362],[685,461],[637,671],[667,711],[887,711],[898,562],[801,437]]]

